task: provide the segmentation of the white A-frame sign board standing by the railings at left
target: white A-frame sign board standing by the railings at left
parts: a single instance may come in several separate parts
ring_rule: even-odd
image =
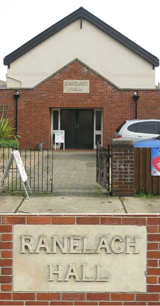
[[[28,192],[27,192],[26,186],[25,186],[25,182],[27,182],[27,185],[29,187],[29,190],[30,190],[31,194],[32,194],[32,191],[31,191],[31,188],[30,188],[30,185],[29,185],[29,182],[28,182],[28,177],[27,177],[27,173],[26,173],[23,161],[22,161],[21,156],[20,156],[20,152],[18,150],[13,151],[10,155],[10,158],[8,160],[8,163],[7,163],[3,178],[2,178],[3,186],[4,186],[4,183],[5,183],[8,175],[9,175],[9,171],[10,171],[10,168],[11,168],[11,165],[12,165],[14,159],[15,159],[18,171],[20,173],[20,176],[21,176],[21,179],[22,179],[22,184],[24,186],[27,198],[29,199]]]

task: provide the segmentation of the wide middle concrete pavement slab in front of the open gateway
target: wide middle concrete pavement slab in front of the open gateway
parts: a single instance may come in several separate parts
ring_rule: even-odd
[[[109,197],[31,197],[19,207],[19,213],[125,213],[119,198]]]

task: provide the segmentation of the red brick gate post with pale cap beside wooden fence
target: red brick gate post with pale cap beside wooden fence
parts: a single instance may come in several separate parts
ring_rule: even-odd
[[[112,139],[112,196],[132,196],[134,192],[133,140]]]

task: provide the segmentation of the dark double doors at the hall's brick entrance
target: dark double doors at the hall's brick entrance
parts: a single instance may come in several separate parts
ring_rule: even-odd
[[[65,130],[65,147],[93,149],[93,120],[93,110],[62,109],[61,129]]]

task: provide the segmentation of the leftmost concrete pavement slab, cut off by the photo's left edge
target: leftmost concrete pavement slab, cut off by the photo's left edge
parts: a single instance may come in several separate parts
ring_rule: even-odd
[[[23,196],[0,195],[0,213],[14,213],[23,199]]]

